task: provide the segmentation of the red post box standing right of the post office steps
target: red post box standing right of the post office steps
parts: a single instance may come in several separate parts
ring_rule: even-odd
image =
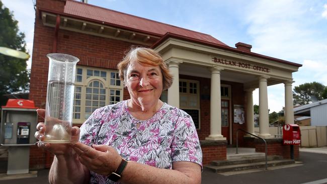
[[[300,127],[296,124],[287,124],[283,128],[283,144],[298,145],[301,144]]]

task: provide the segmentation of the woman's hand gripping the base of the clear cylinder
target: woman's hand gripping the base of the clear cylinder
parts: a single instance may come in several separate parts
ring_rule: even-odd
[[[44,119],[45,117],[45,110],[44,109],[37,109],[37,114]],[[37,124],[36,129],[38,131],[35,132],[35,138],[39,141],[44,141],[44,133],[46,132],[46,126],[43,122],[40,122]],[[71,128],[71,142],[78,142],[79,139],[79,128],[78,127],[72,127]],[[41,143],[38,142],[38,147],[48,150],[49,152],[53,153],[56,156],[63,155],[63,156],[69,156],[73,155],[74,151],[71,148],[70,144],[67,143]]]

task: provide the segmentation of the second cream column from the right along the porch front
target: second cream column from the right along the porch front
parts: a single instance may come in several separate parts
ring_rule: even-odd
[[[259,127],[260,137],[269,138],[269,111],[266,76],[259,77]]]

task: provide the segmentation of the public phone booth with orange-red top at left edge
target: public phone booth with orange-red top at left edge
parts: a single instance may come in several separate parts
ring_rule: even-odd
[[[30,146],[36,144],[36,109],[33,101],[25,99],[9,99],[2,106],[0,145],[8,148],[7,174],[29,173]]]

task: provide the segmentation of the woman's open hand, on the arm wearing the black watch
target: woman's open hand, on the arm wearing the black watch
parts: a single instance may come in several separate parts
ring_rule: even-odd
[[[93,145],[92,148],[83,143],[74,143],[72,148],[82,164],[102,175],[114,172],[122,159],[118,152],[108,145]]]

